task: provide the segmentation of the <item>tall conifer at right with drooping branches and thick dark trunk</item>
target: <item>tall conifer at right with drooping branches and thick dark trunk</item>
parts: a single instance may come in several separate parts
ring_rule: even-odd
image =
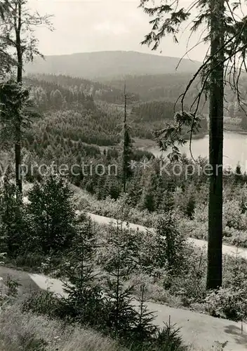
[[[151,6],[148,6],[150,3],[152,3]],[[200,0],[192,7],[194,5],[199,11],[198,15],[192,20],[191,32],[196,32],[206,22],[207,32],[203,41],[209,42],[210,54],[206,56],[203,65],[187,84],[185,93],[180,95],[182,112],[175,113],[175,124],[168,124],[166,128],[157,131],[155,136],[161,149],[166,151],[168,147],[172,147],[170,158],[178,159],[180,151],[177,145],[186,143],[181,138],[182,131],[185,126],[189,126],[191,145],[192,134],[199,131],[200,127],[198,115],[200,102],[202,103],[205,93],[206,97],[209,96],[209,163],[213,171],[209,177],[208,273],[206,285],[208,289],[218,289],[222,285],[223,108],[225,77],[227,77],[225,72],[229,72],[231,76],[230,78],[227,77],[227,81],[229,79],[234,81],[234,84],[230,84],[230,87],[236,93],[238,102],[241,103],[239,79],[241,77],[241,67],[245,65],[247,26],[246,16],[243,15],[243,18],[240,18],[238,13],[241,10],[241,1],[229,4],[225,0]],[[179,3],[173,1],[161,1],[159,6],[155,6],[151,0],[140,0],[140,7],[152,17],[149,22],[152,25],[152,30],[145,36],[142,44],[153,44],[152,50],[156,50],[161,39],[169,34],[172,34],[175,41],[178,42],[177,34],[182,24],[189,19],[191,7],[187,9],[180,7]],[[187,112],[185,100],[192,84],[199,76],[201,76],[201,89],[192,102],[189,112]]]

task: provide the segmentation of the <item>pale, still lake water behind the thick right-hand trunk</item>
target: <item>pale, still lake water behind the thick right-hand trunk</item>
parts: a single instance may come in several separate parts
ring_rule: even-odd
[[[208,143],[208,135],[201,139],[192,140],[192,154],[194,159],[199,156],[208,157]],[[156,157],[159,157],[161,154],[166,156],[169,153],[169,151],[161,152],[159,147],[149,147],[148,151],[152,152]],[[185,146],[180,147],[180,151],[187,154],[187,157],[190,157],[189,141]],[[230,166],[231,168],[236,168],[236,165],[239,163],[241,170],[247,172],[247,135],[225,132],[223,156],[224,167]]]

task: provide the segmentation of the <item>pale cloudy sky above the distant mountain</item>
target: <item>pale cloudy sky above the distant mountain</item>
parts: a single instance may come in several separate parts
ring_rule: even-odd
[[[181,0],[187,7],[192,1]],[[36,32],[40,51],[44,55],[61,55],[91,51],[140,51],[154,53],[141,46],[149,32],[149,16],[138,8],[140,0],[30,0],[29,7],[41,14],[53,14],[55,30],[41,28]],[[185,31],[180,44],[163,39],[162,55],[181,57],[187,51],[189,33]],[[192,37],[189,47],[199,37]],[[159,51],[155,52],[159,54]],[[189,58],[202,60],[206,48],[202,45],[189,53]]]

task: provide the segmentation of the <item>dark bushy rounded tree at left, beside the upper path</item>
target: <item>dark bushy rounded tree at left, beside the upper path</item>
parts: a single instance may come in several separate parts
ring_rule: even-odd
[[[74,237],[72,196],[67,180],[51,170],[29,190],[32,231],[44,253],[67,249]]]

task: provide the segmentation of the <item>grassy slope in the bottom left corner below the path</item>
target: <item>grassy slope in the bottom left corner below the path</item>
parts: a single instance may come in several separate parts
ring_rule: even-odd
[[[114,340],[79,326],[23,313],[20,306],[8,306],[0,314],[0,350],[120,351]],[[44,345],[45,348],[41,348]],[[40,347],[40,348],[39,348]]]

